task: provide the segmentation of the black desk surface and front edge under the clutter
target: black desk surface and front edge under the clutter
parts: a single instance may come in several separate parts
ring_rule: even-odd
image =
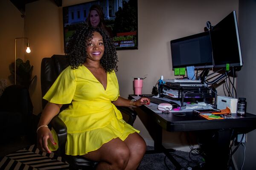
[[[133,95],[129,95],[131,98]],[[213,119],[207,120],[192,112],[185,112],[186,116],[175,116],[172,113],[155,113],[145,105],[140,106],[155,122],[163,129],[169,132],[192,131],[192,130],[209,130],[209,129],[228,129],[238,128],[241,132],[245,132],[256,128],[256,115],[246,113],[246,116],[236,116],[236,119]]]

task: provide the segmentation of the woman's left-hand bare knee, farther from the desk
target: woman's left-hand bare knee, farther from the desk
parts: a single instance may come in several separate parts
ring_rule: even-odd
[[[128,164],[130,157],[130,150],[128,147],[116,148],[115,154],[113,157],[113,169],[115,170],[124,170]]]

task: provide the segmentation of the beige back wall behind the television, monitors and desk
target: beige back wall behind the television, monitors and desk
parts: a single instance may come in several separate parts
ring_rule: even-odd
[[[87,1],[89,0],[63,0],[62,5],[69,6]],[[0,40],[1,44],[7,42],[11,46],[9,48],[5,45],[9,51],[7,54],[3,54],[3,49],[1,50],[1,61],[3,62],[1,62],[0,69],[2,74],[8,70],[6,65],[12,61],[14,56],[14,37],[22,36],[23,31],[21,33],[19,31],[23,30],[23,19],[20,19],[19,11],[9,0],[1,2],[5,2],[4,6],[8,8],[4,14],[9,14],[8,18],[12,17],[17,25],[15,26],[9,19],[5,19],[8,23],[5,31],[14,27],[17,29],[6,35],[5,41],[2,38]],[[12,12],[9,11],[9,8]],[[209,20],[212,25],[215,25],[233,10],[238,13],[238,0],[138,0],[139,49],[117,52],[119,71],[116,74],[119,79],[121,96],[127,97],[128,94],[133,94],[133,77],[147,75],[143,84],[143,93],[145,94],[151,93],[152,87],[161,75],[164,78],[175,78],[170,60],[170,40],[202,32],[206,21]],[[2,37],[3,31],[0,32]],[[25,36],[29,37],[32,50],[31,54],[25,56],[25,59],[29,59],[34,65],[33,74],[38,76],[30,89],[34,113],[38,114],[41,112],[41,59],[51,57],[53,54],[64,54],[62,8],[57,7],[52,0],[38,0],[27,4]],[[3,59],[3,56],[6,59]],[[2,77],[7,77],[7,75],[3,74]],[[221,94],[222,87],[218,89]],[[140,119],[136,120],[134,126],[141,130],[143,137],[151,138]],[[169,134],[164,136],[172,138],[172,136],[168,137]]]

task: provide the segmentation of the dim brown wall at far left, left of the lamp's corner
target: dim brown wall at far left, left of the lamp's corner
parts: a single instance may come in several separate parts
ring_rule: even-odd
[[[24,37],[24,18],[9,0],[1,0],[0,6],[0,79],[7,79],[11,85],[9,65],[14,62],[15,38]],[[24,39],[17,40],[17,58],[24,59],[24,51]]]

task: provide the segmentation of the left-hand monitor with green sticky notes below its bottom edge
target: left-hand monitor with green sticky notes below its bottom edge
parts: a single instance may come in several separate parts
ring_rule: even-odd
[[[172,69],[195,66],[195,68],[211,68],[212,46],[209,32],[190,35],[171,40]]]

